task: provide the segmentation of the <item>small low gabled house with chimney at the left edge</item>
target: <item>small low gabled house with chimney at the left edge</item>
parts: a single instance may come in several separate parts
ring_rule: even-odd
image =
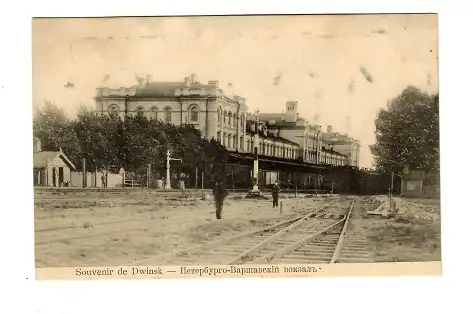
[[[33,185],[35,186],[67,186],[71,182],[74,164],[66,157],[62,149],[59,151],[42,151],[41,141],[34,140],[33,146]]]

